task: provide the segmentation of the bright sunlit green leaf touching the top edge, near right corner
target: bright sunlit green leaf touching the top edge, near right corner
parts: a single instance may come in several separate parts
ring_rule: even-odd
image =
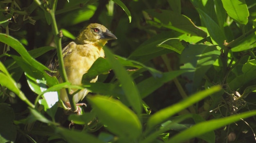
[[[239,25],[248,23],[249,11],[245,0],[221,0],[227,14]]]

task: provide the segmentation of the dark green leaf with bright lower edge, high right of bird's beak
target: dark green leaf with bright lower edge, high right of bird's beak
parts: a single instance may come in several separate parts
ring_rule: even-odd
[[[195,26],[188,17],[181,15],[180,13],[163,9],[149,9],[145,12],[148,13],[150,17],[150,20],[147,20],[148,22],[155,22],[159,26],[170,28],[182,33],[189,33],[201,37],[207,36],[206,32]]]

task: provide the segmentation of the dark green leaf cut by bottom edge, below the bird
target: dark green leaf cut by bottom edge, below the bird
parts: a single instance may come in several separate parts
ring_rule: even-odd
[[[68,143],[104,143],[103,141],[94,137],[92,134],[87,134],[81,131],[68,130],[60,127],[57,127],[55,131]]]

